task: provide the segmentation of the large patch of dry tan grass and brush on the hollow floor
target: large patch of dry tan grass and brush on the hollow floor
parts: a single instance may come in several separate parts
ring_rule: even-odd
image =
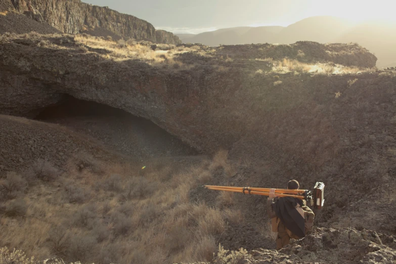
[[[223,151],[214,162],[226,164],[226,157]],[[164,160],[142,170],[83,154],[51,177],[54,167],[40,160],[27,173],[29,181],[11,173],[2,182],[19,197],[4,203],[0,246],[36,259],[56,255],[99,264],[210,261],[215,237],[240,216],[190,203],[189,191],[211,180],[208,165]]]

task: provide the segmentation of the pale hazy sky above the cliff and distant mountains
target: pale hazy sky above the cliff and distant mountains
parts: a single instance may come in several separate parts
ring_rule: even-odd
[[[173,33],[200,33],[236,26],[287,26],[303,18],[330,15],[355,22],[396,22],[389,0],[82,0],[147,20]]]

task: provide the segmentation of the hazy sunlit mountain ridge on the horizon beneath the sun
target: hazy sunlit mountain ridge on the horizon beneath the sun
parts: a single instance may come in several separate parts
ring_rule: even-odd
[[[176,34],[184,43],[208,46],[242,45],[251,43],[290,44],[296,41],[320,43],[357,42],[377,58],[377,67],[396,66],[396,26],[373,23],[354,24],[345,19],[318,16],[300,20],[287,27],[236,27],[200,34]]]

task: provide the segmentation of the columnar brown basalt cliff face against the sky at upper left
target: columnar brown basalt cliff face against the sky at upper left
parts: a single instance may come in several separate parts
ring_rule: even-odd
[[[79,33],[87,27],[100,27],[124,39],[181,43],[179,37],[170,32],[155,30],[154,26],[147,21],[106,7],[85,4],[80,0],[12,0],[11,2],[19,12],[33,12],[35,16],[41,16],[51,26],[69,34]]]

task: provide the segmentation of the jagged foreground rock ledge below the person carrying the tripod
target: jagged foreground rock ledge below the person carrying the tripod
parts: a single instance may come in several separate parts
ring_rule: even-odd
[[[257,249],[217,254],[212,264],[235,263],[394,263],[396,240],[375,231],[353,228],[315,229],[311,234],[280,251]]]

